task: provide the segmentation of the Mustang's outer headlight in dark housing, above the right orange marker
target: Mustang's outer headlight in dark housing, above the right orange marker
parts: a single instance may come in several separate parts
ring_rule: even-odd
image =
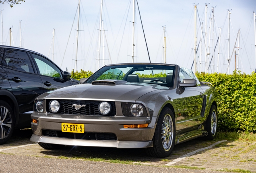
[[[146,107],[142,103],[122,102],[121,105],[122,105],[123,115],[126,117],[148,117]],[[135,108],[135,110],[137,107],[140,109],[140,111],[142,110],[142,112],[137,110],[137,114],[136,114],[135,110],[132,111],[132,107]]]

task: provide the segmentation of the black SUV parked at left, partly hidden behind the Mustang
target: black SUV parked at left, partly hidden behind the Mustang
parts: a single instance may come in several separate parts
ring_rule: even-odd
[[[30,128],[37,96],[78,84],[46,56],[12,46],[0,45],[0,144],[15,129]]]

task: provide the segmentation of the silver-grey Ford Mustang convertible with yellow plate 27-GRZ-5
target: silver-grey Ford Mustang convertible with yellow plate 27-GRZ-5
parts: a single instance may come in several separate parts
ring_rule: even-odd
[[[215,89],[173,64],[106,65],[83,84],[35,99],[31,141],[64,145],[145,148],[168,157],[175,144],[217,135]]]

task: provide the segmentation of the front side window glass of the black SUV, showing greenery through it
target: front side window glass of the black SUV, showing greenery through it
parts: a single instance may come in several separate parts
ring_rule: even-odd
[[[58,67],[56,67],[51,61],[46,58],[33,54],[35,62],[37,63],[39,73],[41,75],[50,76],[54,78],[62,78],[62,73]]]

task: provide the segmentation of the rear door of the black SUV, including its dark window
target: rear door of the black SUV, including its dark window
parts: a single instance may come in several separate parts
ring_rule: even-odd
[[[26,51],[5,49],[1,67],[6,73],[3,80],[8,80],[19,104],[19,124],[30,127],[34,100],[43,93],[42,80],[35,74],[35,66]]]

